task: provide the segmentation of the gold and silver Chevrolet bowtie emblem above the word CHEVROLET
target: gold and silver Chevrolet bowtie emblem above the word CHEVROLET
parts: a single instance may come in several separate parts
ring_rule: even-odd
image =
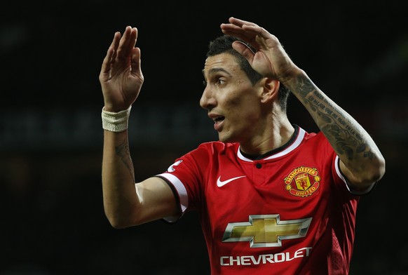
[[[229,223],[222,241],[249,241],[252,248],[282,246],[282,240],[304,237],[312,218],[280,220],[276,214],[250,215],[249,220]]]

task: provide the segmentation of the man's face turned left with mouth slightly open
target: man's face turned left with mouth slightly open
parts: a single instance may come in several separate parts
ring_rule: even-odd
[[[208,111],[222,142],[249,142],[261,123],[262,86],[252,86],[233,55],[205,60],[206,86],[200,106]]]

